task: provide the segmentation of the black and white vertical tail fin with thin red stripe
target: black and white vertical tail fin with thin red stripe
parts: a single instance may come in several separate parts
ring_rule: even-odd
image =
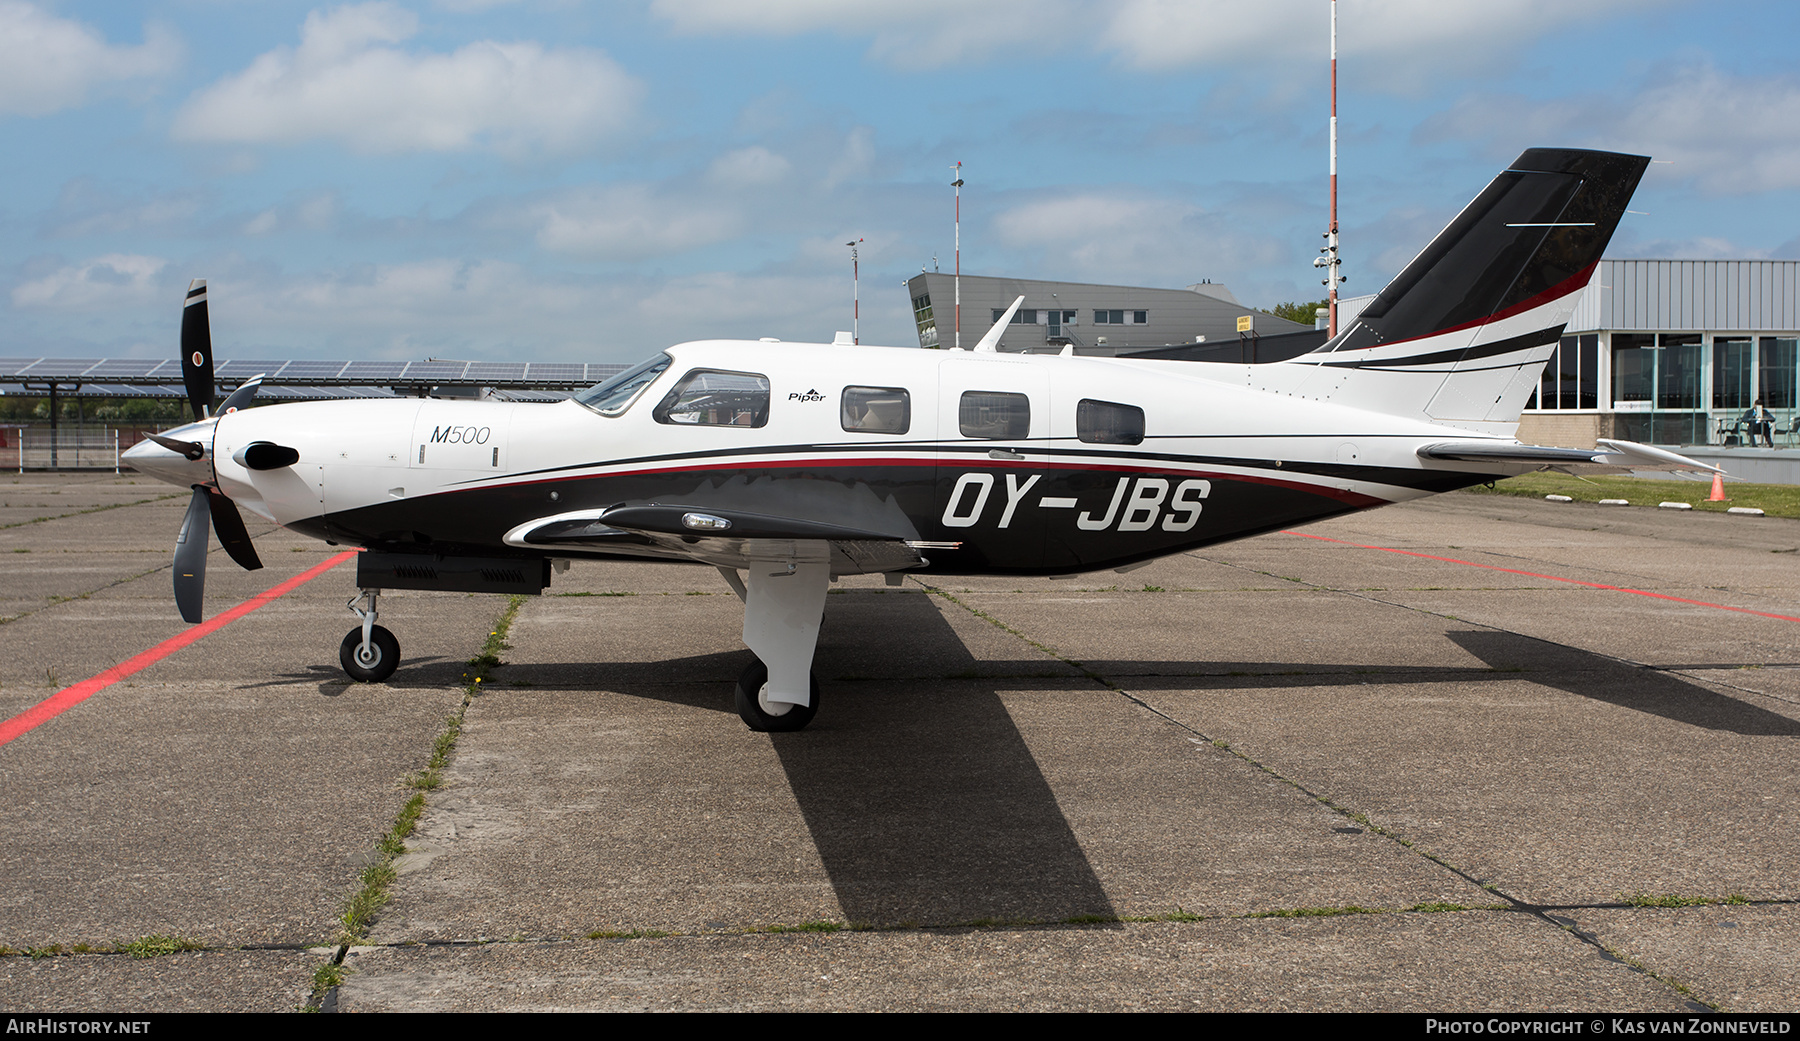
[[[1526,149],[1350,328],[1267,366],[1269,389],[1510,432],[1649,162]]]

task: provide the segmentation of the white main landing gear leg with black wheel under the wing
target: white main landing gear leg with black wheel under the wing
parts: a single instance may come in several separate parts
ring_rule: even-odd
[[[743,598],[743,643],[756,654],[738,677],[738,715],[758,731],[805,728],[819,711],[812,652],[832,585],[830,558],[756,560],[747,569],[749,584],[736,571],[720,571]]]

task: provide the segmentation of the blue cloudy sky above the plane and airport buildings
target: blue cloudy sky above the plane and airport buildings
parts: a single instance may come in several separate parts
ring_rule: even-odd
[[[1519,149],[1649,153],[1609,256],[1800,258],[1800,5],[1343,0],[1346,292]],[[0,0],[7,357],[916,344],[902,281],[1316,299],[1327,0]]]

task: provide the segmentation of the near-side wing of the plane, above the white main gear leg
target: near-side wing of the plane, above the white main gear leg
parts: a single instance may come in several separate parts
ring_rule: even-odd
[[[716,506],[608,506],[544,517],[506,533],[506,542],[531,549],[630,551],[686,558],[715,567],[749,567],[769,560],[817,560],[832,575],[877,575],[925,564],[938,544],[905,540],[808,520]]]

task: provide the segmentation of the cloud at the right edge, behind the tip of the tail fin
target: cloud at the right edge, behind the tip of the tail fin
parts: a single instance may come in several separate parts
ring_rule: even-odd
[[[1670,160],[1674,177],[1706,195],[1800,187],[1800,77],[1726,76],[1697,65],[1660,68],[1636,94],[1534,101],[1465,97],[1418,130],[1422,140],[1580,142]]]

